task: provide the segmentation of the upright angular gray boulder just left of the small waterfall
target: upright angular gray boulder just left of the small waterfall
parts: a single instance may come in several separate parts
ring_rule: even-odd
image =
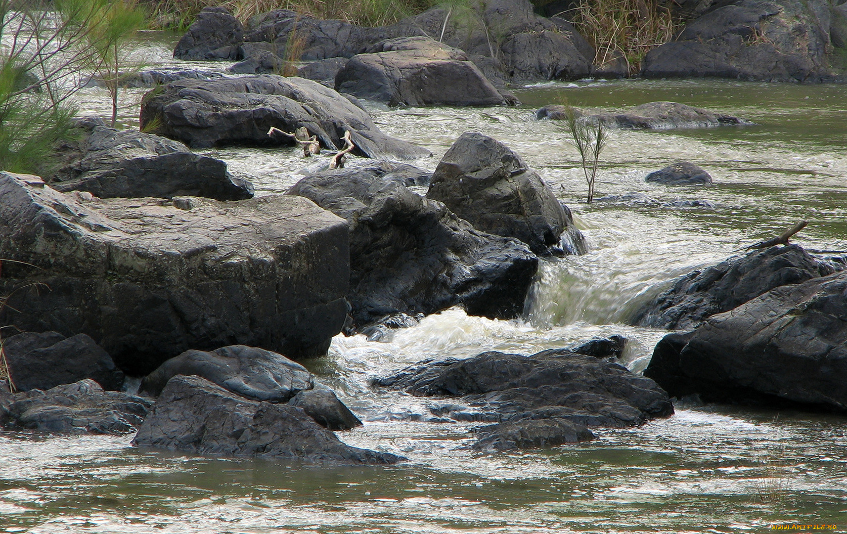
[[[560,248],[564,232],[582,245],[578,253],[587,250],[569,211],[540,176],[489,136],[459,136],[435,168],[427,197],[479,231],[517,237],[536,254]]]

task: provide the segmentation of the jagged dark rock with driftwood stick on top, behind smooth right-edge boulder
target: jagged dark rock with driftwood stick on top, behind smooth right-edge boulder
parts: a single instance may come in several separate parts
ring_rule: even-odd
[[[832,272],[832,266],[818,261],[799,245],[753,250],[681,276],[639,309],[630,323],[689,330],[710,315],[734,309],[774,287],[799,284]]]

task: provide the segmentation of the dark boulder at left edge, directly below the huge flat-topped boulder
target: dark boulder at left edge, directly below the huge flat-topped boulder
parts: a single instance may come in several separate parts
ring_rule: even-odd
[[[91,337],[58,332],[24,332],[3,339],[3,352],[16,391],[47,390],[89,378],[108,390],[124,385],[112,357]]]

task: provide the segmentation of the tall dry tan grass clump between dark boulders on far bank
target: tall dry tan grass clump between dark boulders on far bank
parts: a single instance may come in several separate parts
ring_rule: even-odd
[[[596,65],[605,64],[619,51],[630,74],[638,73],[650,48],[673,39],[683,25],[657,0],[579,0],[568,14],[594,45]]]

